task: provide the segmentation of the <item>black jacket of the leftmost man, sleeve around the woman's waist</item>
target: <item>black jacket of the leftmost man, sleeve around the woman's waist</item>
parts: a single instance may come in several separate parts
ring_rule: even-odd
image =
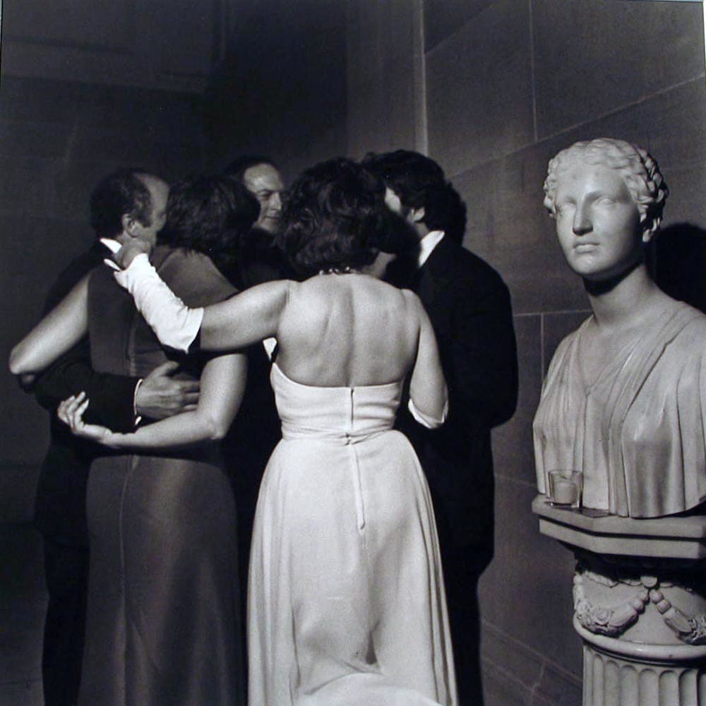
[[[102,263],[107,249],[96,243],[59,275],[49,291],[45,313],[51,311],[73,285]],[[138,378],[97,373],[90,365],[88,337],[38,376],[34,385],[40,405],[51,414],[50,441],[42,462],[35,500],[35,525],[42,534],[78,546],[88,544],[85,491],[90,462],[107,453],[73,436],[56,418],[61,400],[81,392],[88,395],[87,421],[100,422],[114,431],[131,431],[135,423],[133,395]]]

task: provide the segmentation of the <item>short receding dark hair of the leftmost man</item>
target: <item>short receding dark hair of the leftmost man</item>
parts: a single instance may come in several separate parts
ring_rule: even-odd
[[[152,211],[150,191],[140,177],[146,169],[124,167],[101,179],[90,195],[90,225],[98,238],[114,238],[123,229],[123,216],[148,226]]]

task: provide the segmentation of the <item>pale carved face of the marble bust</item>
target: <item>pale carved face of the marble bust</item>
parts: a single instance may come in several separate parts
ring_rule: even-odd
[[[606,280],[642,258],[638,206],[620,172],[576,160],[558,175],[556,234],[566,261],[587,280]]]

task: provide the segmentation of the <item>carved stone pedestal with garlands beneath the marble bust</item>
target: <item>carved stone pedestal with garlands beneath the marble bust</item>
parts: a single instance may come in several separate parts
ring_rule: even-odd
[[[532,510],[577,558],[583,706],[706,706],[706,517]]]

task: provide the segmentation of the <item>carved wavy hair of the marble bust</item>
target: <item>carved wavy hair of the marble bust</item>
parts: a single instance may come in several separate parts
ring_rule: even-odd
[[[659,229],[669,195],[654,157],[638,145],[613,138],[577,142],[561,150],[549,160],[544,181],[544,205],[551,217],[556,218],[556,191],[562,179],[581,165],[605,167],[620,174],[638,208],[642,238],[650,240]]]

